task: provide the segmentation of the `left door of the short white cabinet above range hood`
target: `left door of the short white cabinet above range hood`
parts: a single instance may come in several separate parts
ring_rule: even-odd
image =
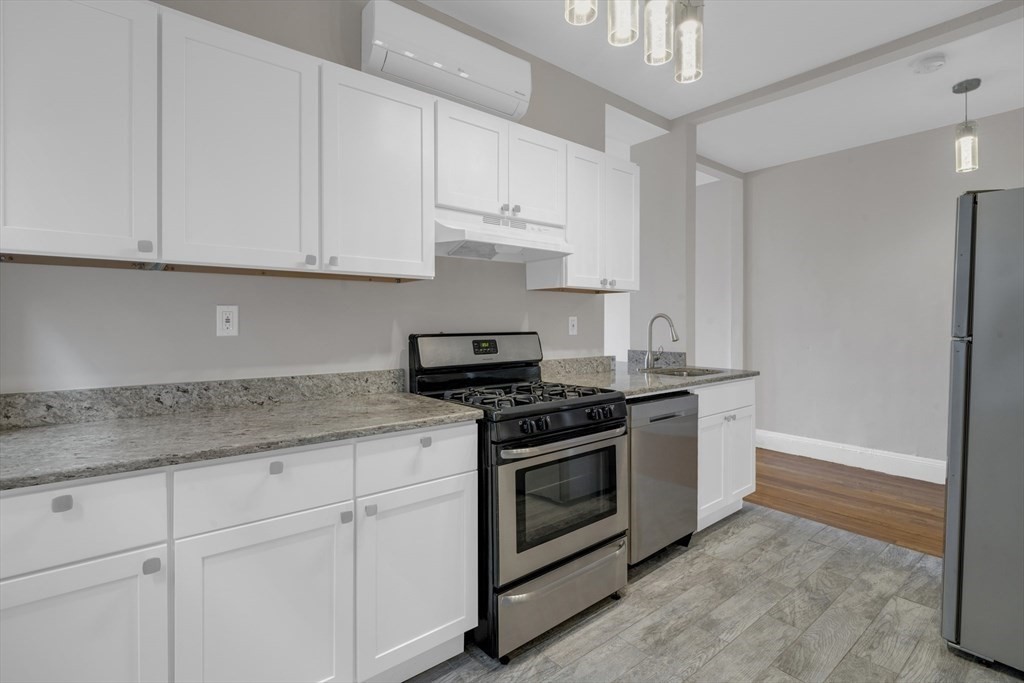
[[[509,123],[437,100],[437,206],[508,211]]]

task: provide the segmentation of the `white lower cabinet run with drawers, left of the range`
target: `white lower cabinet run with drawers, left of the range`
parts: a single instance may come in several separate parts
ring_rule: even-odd
[[[468,423],[5,493],[0,683],[411,678],[476,626],[476,463]]]

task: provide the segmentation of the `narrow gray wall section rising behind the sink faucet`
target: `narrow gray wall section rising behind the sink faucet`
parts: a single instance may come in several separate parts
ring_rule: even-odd
[[[668,313],[680,339],[673,342],[658,322],[654,348],[693,357],[694,127],[677,123],[668,134],[634,144],[631,159],[640,166],[640,291],[630,299],[630,348],[645,349],[651,315]]]

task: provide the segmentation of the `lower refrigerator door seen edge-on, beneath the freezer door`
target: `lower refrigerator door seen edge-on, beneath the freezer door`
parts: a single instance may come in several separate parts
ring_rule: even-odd
[[[971,342],[954,339],[949,359],[949,440],[946,446],[946,538],[942,571],[942,637],[959,642],[964,471],[967,457]]]

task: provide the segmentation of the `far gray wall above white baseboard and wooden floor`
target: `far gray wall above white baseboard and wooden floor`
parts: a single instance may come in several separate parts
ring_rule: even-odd
[[[954,208],[1024,185],[1024,110],[748,174],[746,362],[758,427],[945,459]]]

